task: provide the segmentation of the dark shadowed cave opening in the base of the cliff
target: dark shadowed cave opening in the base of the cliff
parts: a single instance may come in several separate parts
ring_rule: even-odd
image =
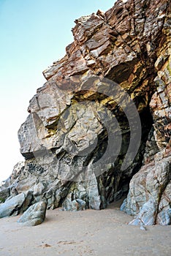
[[[123,161],[123,154],[118,155],[115,166],[112,167],[102,176],[97,177],[99,186],[99,195],[101,196],[102,204],[100,208],[106,208],[107,205],[114,201],[118,201],[121,197],[126,197],[129,192],[129,182],[142,167],[142,160],[145,154],[145,145],[148,140],[148,135],[153,127],[153,118],[149,106],[140,113],[140,121],[142,126],[142,137],[139,151],[134,158],[134,162],[129,168],[121,172],[121,162]],[[125,140],[129,141],[129,133]],[[122,147],[127,145],[122,145]],[[123,150],[125,151],[125,150]]]

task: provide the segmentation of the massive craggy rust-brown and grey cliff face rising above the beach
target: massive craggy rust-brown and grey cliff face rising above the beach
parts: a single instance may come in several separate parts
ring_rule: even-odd
[[[100,209],[129,192],[132,224],[170,225],[170,11],[167,0],[117,1],[75,20],[18,132],[26,162],[0,197]]]

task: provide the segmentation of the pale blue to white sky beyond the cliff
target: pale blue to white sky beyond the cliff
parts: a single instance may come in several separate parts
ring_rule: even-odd
[[[0,182],[20,154],[18,129],[29,100],[45,83],[42,71],[61,59],[73,41],[74,20],[115,0],[0,0]]]

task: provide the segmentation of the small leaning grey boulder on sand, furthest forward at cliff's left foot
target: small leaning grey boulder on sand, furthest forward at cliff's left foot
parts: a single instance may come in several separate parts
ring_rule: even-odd
[[[23,215],[18,219],[18,222],[25,226],[37,226],[44,222],[47,204],[45,201],[34,203],[30,206]]]

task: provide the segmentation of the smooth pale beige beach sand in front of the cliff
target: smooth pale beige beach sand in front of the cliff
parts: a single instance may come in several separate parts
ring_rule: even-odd
[[[0,219],[0,255],[171,255],[171,226],[127,225],[132,217],[119,203],[102,211],[49,210],[36,227],[18,218]]]

